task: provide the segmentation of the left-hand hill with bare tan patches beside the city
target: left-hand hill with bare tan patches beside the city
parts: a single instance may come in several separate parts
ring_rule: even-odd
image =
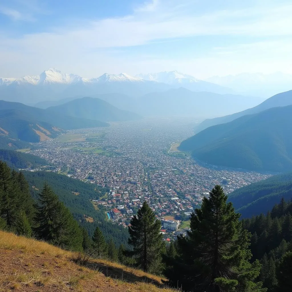
[[[108,126],[104,122],[69,117],[19,102],[0,100],[0,108],[0,145],[6,149],[19,148],[18,140],[39,142],[55,138],[63,130]]]

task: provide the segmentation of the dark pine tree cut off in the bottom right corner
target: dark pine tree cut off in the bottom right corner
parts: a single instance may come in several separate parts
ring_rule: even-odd
[[[279,265],[277,266],[277,279],[279,292],[292,291],[292,252],[288,251],[282,256]]]

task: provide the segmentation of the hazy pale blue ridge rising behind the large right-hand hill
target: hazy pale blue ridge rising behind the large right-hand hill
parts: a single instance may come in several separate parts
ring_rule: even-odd
[[[201,124],[199,124],[195,128],[195,131],[198,133],[199,131],[202,131],[208,127],[218,125],[218,124],[228,123],[230,121],[233,121],[233,120],[235,120],[239,117],[242,117],[244,115],[247,115],[247,114],[256,114],[258,112],[262,112],[262,111],[264,111],[266,109],[270,109],[272,107],[284,107],[286,105],[292,105],[292,90],[278,93],[278,94],[268,98],[267,100],[265,100],[261,104],[255,106],[255,107],[246,109],[242,112],[230,114],[230,115],[225,116],[225,117],[206,119],[205,121],[203,121]]]

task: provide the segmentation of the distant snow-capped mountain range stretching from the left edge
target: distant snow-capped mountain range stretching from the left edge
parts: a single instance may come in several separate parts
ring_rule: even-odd
[[[119,75],[105,73],[97,78],[86,79],[52,68],[36,76],[25,76],[18,79],[0,78],[0,96],[3,100],[34,105],[46,100],[106,93],[121,93],[139,97],[147,93],[166,91],[181,86],[193,91],[232,93],[229,88],[201,81],[176,71],[161,72],[156,75],[161,77],[156,77],[157,80],[150,80],[151,78],[147,76],[144,77],[146,79],[143,79],[140,76],[133,77],[124,73]]]

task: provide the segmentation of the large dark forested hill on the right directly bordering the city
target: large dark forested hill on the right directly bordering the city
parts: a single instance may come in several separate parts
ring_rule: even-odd
[[[257,171],[292,170],[292,106],[209,127],[179,147],[210,164]]]

